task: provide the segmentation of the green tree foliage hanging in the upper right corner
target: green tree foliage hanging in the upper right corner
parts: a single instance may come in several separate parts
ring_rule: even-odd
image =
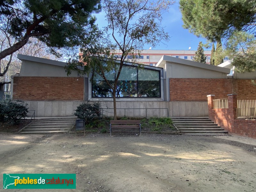
[[[225,53],[224,56],[232,58],[232,64],[239,71],[256,70],[256,57],[249,48],[255,44],[251,41],[256,35],[255,1],[180,0],[180,11],[183,27],[191,33],[205,37],[211,42],[220,42],[221,39],[227,42],[223,46],[225,52],[217,51],[218,46],[216,47],[215,65],[221,63]],[[248,38],[245,39],[245,36]],[[234,44],[230,45],[231,42]],[[238,42],[242,43],[245,49],[241,49]]]

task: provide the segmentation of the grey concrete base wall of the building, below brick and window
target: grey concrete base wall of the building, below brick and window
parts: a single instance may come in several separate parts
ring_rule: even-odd
[[[28,103],[30,110],[36,110],[36,117],[57,117],[57,116],[73,116],[74,110],[82,101],[25,101]],[[92,102],[92,101],[91,101]],[[102,108],[113,108],[113,101],[100,101]],[[207,102],[199,101],[117,101],[117,116],[208,116]],[[137,109],[134,109],[137,108]],[[150,109],[153,108],[153,109]],[[161,108],[161,109],[157,109]],[[104,115],[113,116],[113,109],[104,109]],[[32,114],[29,113],[28,116]]]

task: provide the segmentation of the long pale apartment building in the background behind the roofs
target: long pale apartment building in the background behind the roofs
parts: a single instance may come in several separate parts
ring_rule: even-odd
[[[135,57],[137,63],[143,63],[145,65],[156,66],[157,62],[163,55],[172,56],[180,59],[193,60],[196,50],[143,50],[140,55],[135,51]],[[116,58],[120,58],[122,55],[121,50],[116,49]],[[211,51],[204,51],[206,56],[206,63],[210,64]],[[128,55],[127,59],[132,59],[132,55]],[[228,57],[224,58],[224,62],[228,60]]]

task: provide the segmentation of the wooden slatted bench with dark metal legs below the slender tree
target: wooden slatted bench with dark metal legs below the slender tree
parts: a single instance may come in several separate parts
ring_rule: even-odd
[[[110,136],[112,129],[138,129],[141,136],[140,120],[110,120]]]

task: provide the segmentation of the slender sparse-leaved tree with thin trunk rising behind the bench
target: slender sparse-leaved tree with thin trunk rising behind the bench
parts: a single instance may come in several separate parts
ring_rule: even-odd
[[[161,21],[162,14],[173,3],[173,0],[103,0],[102,9],[106,13],[108,22],[105,31],[95,29],[97,33],[91,34],[90,41],[84,42],[81,46],[82,55],[79,61],[83,62],[71,60],[67,66],[68,74],[71,69],[77,69],[78,64],[84,73],[93,71],[106,81],[113,94],[114,119],[116,119],[117,82],[127,55],[142,50],[144,44],[156,46],[162,40],[169,40],[169,35],[164,31]],[[114,43],[109,40],[110,34]],[[114,57],[116,48],[122,51],[120,60]],[[113,71],[116,71],[115,80],[110,82],[107,77],[113,74]]]

